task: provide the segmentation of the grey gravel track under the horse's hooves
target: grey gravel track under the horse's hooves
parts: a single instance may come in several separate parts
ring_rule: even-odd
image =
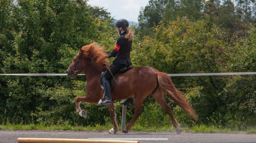
[[[89,132],[89,131],[12,131],[0,130],[0,143],[17,143],[17,138],[168,138],[168,140],[139,140],[140,143],[185,143],[185,142],[232,142],[232,143],[253,143],[256,142],[256,134],[200,134],[182,132],[133,132],[128,134],[118,132],[111,135],[108,132]]]

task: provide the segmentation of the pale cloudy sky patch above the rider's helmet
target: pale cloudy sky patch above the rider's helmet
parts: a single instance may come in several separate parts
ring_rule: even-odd
[[[140,8],[148,4],[149,0],[89,0],[92,6],[104,7],[108,9],[114,19],[127,19],[138,22]]]

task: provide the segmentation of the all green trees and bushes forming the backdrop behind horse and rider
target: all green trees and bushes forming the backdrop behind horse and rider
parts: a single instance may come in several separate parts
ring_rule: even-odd
[[[91,16],[86,1],[0,2],[1,74],[65,73],[83,45],[97,42],[106,51],[112,51],[118,38],[112,20]],[[190,8],[198,11],[187,17],[187,12],[192,10],[182,11],[188,5],[186,0],[180,1],[183,6],[168,11],[161,7],[174,7],[170,1],[150,1],[141,18],[148,20],[142,24],[152,28],[154,33],[150,35],[142,30],[142,34],[135,35],[132,66],[151,66],[172,74],[256,71],[255,25],[244,23],[244,28],[230,34],[227,27],[219,24],[222,19],[220,9],[214,6],[216,1],[204,2],[204,6],[199,1],[194,2]],[[191,20],[191,17],[199,16],[200,8],[206,8],[202,18]],[[175,16],[171,17],[167,12],[174,12]],[[214,127],[250,130],[256,125],[256,76],[172,77],[172,80],[199,115],[198,121],[193,120],[165,96],[175,118],[184,127],[215,132]],[[3,126],[16,124],[14,128],[17,129],[22,124],[29,124],[26,130],[39,128],[35,124],[64,130],[73,130],[74,126],[79,127],[74,130],[83,130],[81,126],[86,126],[85,130],[111,127],[108,108],[81,103],[88,118],[75,114],[75,98],[87,94],[85,86],[84,76],[75,79],[66,76],[0,76],[0,123]],[[120,125],[122,106],[117,101],[115,107]],[[128,106],[127,122],[133,114],[134,107]],[[173,130],[170,126],[169,116],[148,96],[134,130],[161,130],[161,127]]]

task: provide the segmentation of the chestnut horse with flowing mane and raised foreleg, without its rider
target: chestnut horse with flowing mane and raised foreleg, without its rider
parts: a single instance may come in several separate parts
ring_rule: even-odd
[[[100,86],[101,73],[103,70],[109,69],[108,55],[105,55],[103,52],[104,48],[98,47],[95,43],[83,46],[66,71],[71,78],[74,78],[81,72],[84,72],[87,78],[87,96],[77,97],[75,100],[77,114],[83,111],[80,108],[80,102],[83,101],[97,104],[103,97],[103,92]],[[135,99],[135,113],[132,120],[122,131],[124,133],[128,133],[135,121],[139,118],[142,113],[143,100],[148,95],[151,95],[170,116],[177,134],[181,133],[181,128],[174,118],[170,106],[165,102],[163,97],[164,94],[168,95],[194,119],[197,119],[195,111],[189,106],[185,96],[182,95],[182,92],[176,90],[172,80],[166,73],[159,72],[152,67],[136,67],[124,74],[118,74],[115,79],[118,84],[114,82],[114,86],[111,90],[113,103],[112,105],[108,105],[110,117],[114,124],[114,127],[109,131],[111,134],[116,134],[118,132],[114,101],[131,97],[134,97]]]

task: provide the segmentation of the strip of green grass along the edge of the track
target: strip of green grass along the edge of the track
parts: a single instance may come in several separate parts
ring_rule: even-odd
[[[71,131],[109,131],[112,128],[112,124],[95,126],[72,126],[69,124],[57,124],[57,125],[45,125],[45,124],[6,124],[0,125],[0,130],[71,130]],[[248,128],[247,130],[232,130],[231,128],[219,128],[215,126],[193,126],[193,127],[181,127],[182,131],[192,132],[192,133],[232,133],[232,134],[256,134],[256,127]],[[119,130],[121,126],[119,127]],[[135,124],[132,131],[175,131],[173,126],[152,126],[145,127]]]

